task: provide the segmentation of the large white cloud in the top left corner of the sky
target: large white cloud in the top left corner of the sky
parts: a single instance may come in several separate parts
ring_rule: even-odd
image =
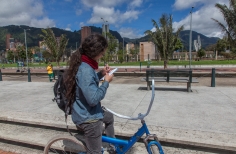
[[[55,23],[44,15],[43,5],[37,0],[1,0],[0,26],[28,25],[39,28],[53,27]]]

